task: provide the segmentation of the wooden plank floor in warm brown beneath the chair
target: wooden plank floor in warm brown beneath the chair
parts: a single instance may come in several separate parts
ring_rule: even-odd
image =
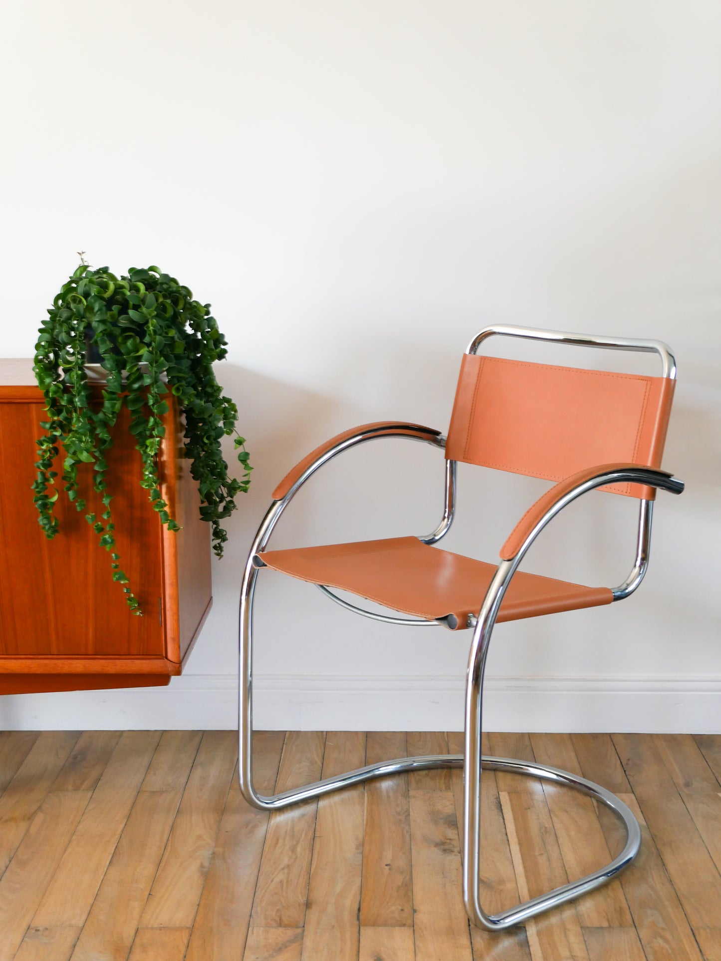
[[[610,788],[643,825],[620,879],[506,934],[461,901],[460,772],[287,812],[242,800],[228,731],[0,733],[0,961],[721,961],[721,736],[491,734]],[[444,733],[261,732],[264,790]],[[622,828],[567,789],[483,776],[492,912],[607,862]],[[611,853],[610,853],[611,852]]]

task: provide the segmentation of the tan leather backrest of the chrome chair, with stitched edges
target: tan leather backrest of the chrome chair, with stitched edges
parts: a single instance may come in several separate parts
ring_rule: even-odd
[[[674,385],[465,354],[445,456],[546,480],[615,461],[661,467]],[[601,489],[654,497],[640,484]]]

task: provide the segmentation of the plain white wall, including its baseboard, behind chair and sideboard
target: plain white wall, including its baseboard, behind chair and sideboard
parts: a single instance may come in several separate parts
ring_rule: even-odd
[[[469,338],[501,321],[667,340],[664,463],[687,491],[660,495],[633,599],[498,628],[488,726],[721,730],[716,0],[36,0],[0,36],[0,356],[32,354],[77,250],[158,263],[228,335],[218,376],[255,465],[186,674],[0,699],[0,726],[231,727],[240,572],[276,480],[354,424],[445,430]],[[276,546],[425,532],[441,484],[438,452],[366,446],[301,492]],[[462,470],[447,546],[492,560],[545,486]],[[591,495],[526,568],[618,582],[635,519]],[[262,580],[259,727],[460,727],[468,632]]]

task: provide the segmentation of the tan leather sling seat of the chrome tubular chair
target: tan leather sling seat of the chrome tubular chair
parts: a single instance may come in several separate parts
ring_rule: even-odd
[[[417,537],[329,544],[258,554],[268,567],[314,584],[351,591],[394,610],[432,620],[455,615],[457,627],[477,615],[495,566],[423,544]],[[611,604],[608,587],[518,572],[498,621],[516,621]]]

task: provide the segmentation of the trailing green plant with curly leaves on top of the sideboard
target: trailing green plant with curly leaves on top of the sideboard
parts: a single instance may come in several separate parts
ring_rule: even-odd
[[[220,557],[228,540],[223,518],[235,509],[235,495],[247,491],[252,470],[245,439],[235,437],[241,480],[228,477],[221,451],[224,434],[236,433],[237,407],[215,380],[213,362],[226,357],[227,340],[210,315],[210,305],[193,300],[191,291],[157,267],[131,267],[117,278],[107,267],[82,263],[48,310],[36,343],[35,374],[48,420],[36,441],[37,479],[33,484],[39,524],[48,538],[59,529],[53,507],[58,500],[53,470],[64,449],[61,480],[68,499],[85,508],[78,485],[78,466],[93,464],[93,486],[105,510],[85,519],[110,552],[112,579],[118,581],[135,614],[140,604],[120,566],[108,493],[108,449],[112,428],[125,405],[130,431],[142,459],[141,485],[168,530],[180,530],[160,495],[157,454],[165,433],[163,416],[170,391],[184,412],[184,447],[190,472],[198,482],[201,517],[212,525],[213,550]],[[99,355],[106,371],[102,402],[93,401],[85,363],[88,349]]]

